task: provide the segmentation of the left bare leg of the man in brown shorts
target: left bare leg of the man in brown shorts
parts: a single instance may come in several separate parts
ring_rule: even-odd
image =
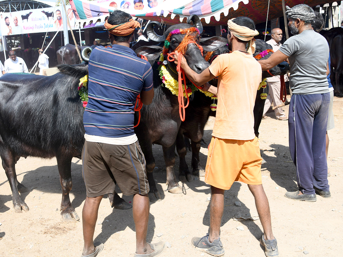
[[[83,252],[82,255],[88,255],[95,252],[93,237],[95,223],[98,218],[98,209],[103,195],[97,197],[86,197],[82,209],[82,227],[83,227]]]

